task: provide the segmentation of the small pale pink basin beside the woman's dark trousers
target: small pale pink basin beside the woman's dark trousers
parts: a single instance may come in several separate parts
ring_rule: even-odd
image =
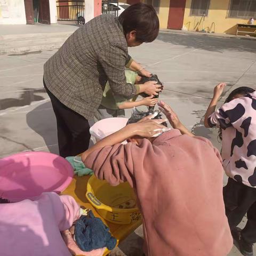
[[[96,139],[96,141],[99,141],[108,135],[122,129],[126,125],[127,121],[128,118],[124,117],[105,118],[96,122],[90,128],[90,133]],[[124,141],[123,144],[125,143],[127,142]]]

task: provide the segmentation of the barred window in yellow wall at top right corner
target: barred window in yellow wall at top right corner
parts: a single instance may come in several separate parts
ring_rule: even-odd
[[[231,0],[229,7],[230,18],[255,18],[256,0]]]

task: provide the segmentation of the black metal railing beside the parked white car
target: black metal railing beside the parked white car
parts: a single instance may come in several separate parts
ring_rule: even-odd
[[[58,21],[76,21],[84,17],[84,1],[56,1]]]

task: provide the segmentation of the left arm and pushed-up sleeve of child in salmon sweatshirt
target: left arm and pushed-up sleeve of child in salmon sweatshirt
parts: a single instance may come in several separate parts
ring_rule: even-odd
[[[146,121],[125,126],[86,150],[82,154],[85,166],[92,169],[98,179],[107,180],[112,186],[125,181],[128,181],[133,186],[134,165],[135,163],[138,164],[138,162],[142,164],[144,155],[153,150],[153,146],[149,140],[143,140],[141,147],[138,147],[135,143],[122,145],[120,142],[134,135],[149,138],[158,133],[159,129],[165,128],[165,126],[159,124],[164,120],[149,120],[148,118],[150,116],[146,118]],[[153,154],[154,152],[151,153],[151,156]],[[137,161],[133,162],[134,157],[135,159],[139,157],[139,161],[137,159]]]

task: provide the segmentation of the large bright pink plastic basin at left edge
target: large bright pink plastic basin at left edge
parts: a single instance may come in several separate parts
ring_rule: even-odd
[[[0,197],[18,202],[43,192],[60,193],[73,178],[65,158],[46,152],[26,152],[0,159]]]

